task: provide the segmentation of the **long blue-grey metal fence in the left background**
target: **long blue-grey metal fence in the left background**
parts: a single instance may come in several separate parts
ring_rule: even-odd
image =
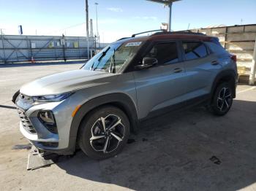
[[[89,48],[95,49],[94,37]],[[0,63],[86,58],[86,37],[0,35]]]

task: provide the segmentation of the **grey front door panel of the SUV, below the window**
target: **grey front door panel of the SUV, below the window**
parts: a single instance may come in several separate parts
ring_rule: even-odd
[[[181,69],[178,73],[174,71]],[[134,71],[137,91],[139,118],[149,112],[163,109],[181,102],[185,93],[185,72],[183,63],[157,66],[151,69]]]

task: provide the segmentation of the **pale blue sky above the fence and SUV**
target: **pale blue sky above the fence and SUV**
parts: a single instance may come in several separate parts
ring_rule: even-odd
[[[140,31],[159,29],[167,22],[167,7],[145,0],[89,0],[94,20],[98,5],[99,35],[113,42]],[[0,28],[4,34],[85,36],[85,0],[0,0]],[[242,21],[241,21],[242,19]],[[182,0],[173,4],[173,30],[210,25],[256,23],[256,0]]]

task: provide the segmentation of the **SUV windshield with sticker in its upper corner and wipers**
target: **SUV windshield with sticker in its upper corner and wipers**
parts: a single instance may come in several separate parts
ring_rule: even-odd
[[[82,69],[116,73],[131,61],[141,44],[142,42],[110,44],[91,58]]]

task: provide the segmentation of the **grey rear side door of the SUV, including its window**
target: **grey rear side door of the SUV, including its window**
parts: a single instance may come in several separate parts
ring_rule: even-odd
[[[219,69],[222,68],[222,65],[219,64],[217,56],[214,54],[208,55],[208,52],[205,52],[205,50],[207,50],[206,46],[202,42],[199,43],[200,46],[192,48],[192,50],[186,50],[186,47],[189,49],[189,46],[192,47],[192,44],[188,46],[184,46],[183,44],[187,93],[181,97],[182,101],[197,98],[201,95],[207,95],[210,93],[213,79],[216,77]],[[203,48],[205,50],[203,50]]]

